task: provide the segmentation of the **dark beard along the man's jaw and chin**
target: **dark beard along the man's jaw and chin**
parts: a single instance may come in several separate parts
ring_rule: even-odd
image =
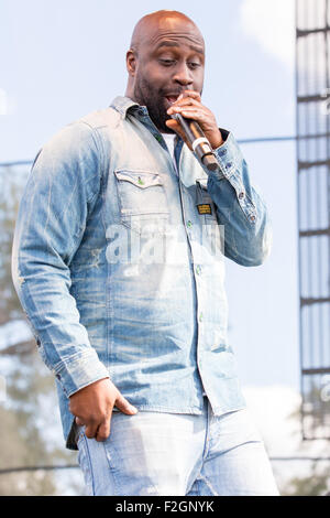
[[[170,116],[167,115],[168,106],[166,106],[165,93],[162,88],[156,90],[145,77],[141,77],[134,87],[134,99],[140,105],[146,106],[150,118],[161,132],[175,133],[165,123]]]

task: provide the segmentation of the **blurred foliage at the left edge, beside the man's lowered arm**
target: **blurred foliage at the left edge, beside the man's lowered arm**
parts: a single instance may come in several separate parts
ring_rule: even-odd
[[[26,170],[0,169],[0,325],[24,319],[11,280],[11,249],[26,173]],[[54,419],[50,422],[45,408],[54,417],[57,401],[54,378],[42,363],[34,339],[2,348],[0,373],[7,385],[7,400],[0,403],[0,468],[75,463],[69,452],[59,451],[47,440],[46,431]],[[0,475],[1,496],[55,493],[52,471]]]

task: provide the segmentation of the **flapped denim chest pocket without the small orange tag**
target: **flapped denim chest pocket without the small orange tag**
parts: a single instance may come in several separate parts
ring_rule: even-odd
[[[168,204],[163,179],[148,171],[114,171],[121,222],[141,233],[168,222]]]

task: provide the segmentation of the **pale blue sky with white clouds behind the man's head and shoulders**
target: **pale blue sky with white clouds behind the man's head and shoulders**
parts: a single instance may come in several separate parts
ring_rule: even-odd
[[[294,0],[0,0],[0,163],[32,160],[63,126],[123,95],[134,24],[189,15],[207,48],[202,101],[237,139],[295,134]],[[299,387],[294,142],[242,144],[273,225],[266,262],[227,261],[229,337],[243,386]]]

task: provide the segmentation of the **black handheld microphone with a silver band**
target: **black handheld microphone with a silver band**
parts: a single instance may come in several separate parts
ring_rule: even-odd
[[[186,119],[180,114],[173,114],[170,117],[180,125],[188,142],[194,150],[194,154],[200,164],[206,166],[208,171],[219,170],[219,164],[215,157],[211,144],[206,138],[199,123],[196,122],[196,120]]]

